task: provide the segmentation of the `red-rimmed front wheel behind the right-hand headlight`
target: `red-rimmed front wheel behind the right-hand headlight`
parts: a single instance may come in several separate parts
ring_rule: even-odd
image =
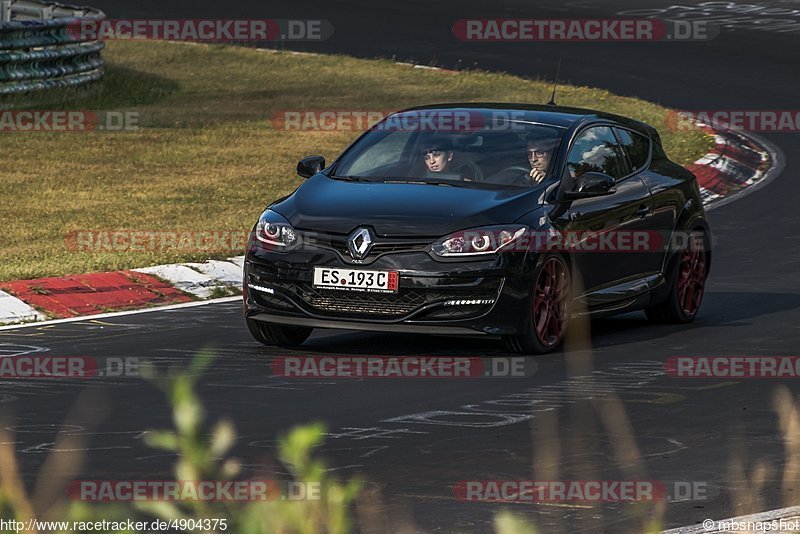
[[[560,254],[548,254],[537,267],[531,288],[530,324],[526,334],[506,336],[511,352],[547,354],[564,341],[570,318],[572,278]]]

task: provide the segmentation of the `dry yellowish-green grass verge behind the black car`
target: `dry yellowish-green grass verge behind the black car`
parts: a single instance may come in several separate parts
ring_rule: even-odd
[[[414,69],[389,60],[167,42],[112,42],[108,74],[83,89],[15,97],[3,107],[138,111],[135,132],[0,132],[0,281],[215,257],[203,252],[68,250],[69,232],[246,231],[300,183],[297,160],[336,156],[353,131],[278,131],[273,113],[390,110],[444,101],[546,102],[545,82],[487,72]],[[659,128],[681,163],[711,139],[664,128],[666,109],[599,89],[563,86],[559,104]],[[231,253],[216,254],[216,257]]]

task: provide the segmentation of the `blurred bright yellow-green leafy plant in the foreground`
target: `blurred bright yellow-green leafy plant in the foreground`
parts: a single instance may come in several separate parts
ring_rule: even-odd
[[[205,413],[195,387],[211,361],[211,354],[202,352],[182,371],[158,375],[152,367],[144,370],[169,399],[175,424],[174,431],[148,432],[145,441],[177,453],[177,481],[232,480],[241,472],[237,460],[226,458],[236,440],[233,424],[223,420],[210,435],[204,431]],[[322,443],[323,432],[319,423],[298,427],[280,438],[278,446],[279,460],[292,482],[319,487],[318,500],[283,500],[276,495],[274,500],[253,502],[148,501],[137,503],[137,509],[167,521],[226,518],[226,531],[237,534],[349,532],[350,508],[361,484],[357,480],[332,480],[326,475],[325,464],[312,457],[313,449]]]

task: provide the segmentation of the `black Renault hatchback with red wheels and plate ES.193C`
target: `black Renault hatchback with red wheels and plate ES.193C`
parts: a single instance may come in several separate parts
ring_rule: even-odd
[[[258,341],[313,328],[559,346],[578,315],[696,316],[711,262],[695,176],[656,130],[556,106],[402,111],[261,214],[244,264]]]

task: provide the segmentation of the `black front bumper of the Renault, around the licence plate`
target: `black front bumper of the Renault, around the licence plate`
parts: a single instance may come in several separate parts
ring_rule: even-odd
[[[399,248],[399,247],[398,247]],[[533,266],[524,252],[439,261],[426,250],[395,249],[354,264],[340,250],[304,245],[275,252],[253,245],[244,265],[249,319],[274,324],[387,332],[506,335],[529,322]],[[313,286],[314,267],[393,270],[396,294]]]

